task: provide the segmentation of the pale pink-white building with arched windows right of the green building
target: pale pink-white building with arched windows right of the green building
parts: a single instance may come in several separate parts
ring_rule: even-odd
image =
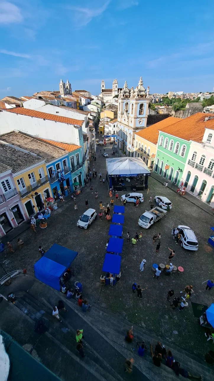
[[[214,208],[214,130],[205,128],[202,143],[191,141],[182,181],[187,192]]]

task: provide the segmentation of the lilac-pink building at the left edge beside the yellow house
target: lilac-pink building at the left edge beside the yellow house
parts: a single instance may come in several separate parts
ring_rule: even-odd
[[[11,168],[1,165],[0,179],[0,235],[1,237],[28,219],[15,186]]]

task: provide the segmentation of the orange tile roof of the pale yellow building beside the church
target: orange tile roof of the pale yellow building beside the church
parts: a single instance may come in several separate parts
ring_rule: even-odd
[[[158,123],[152,124],[151,126],[144,128],[143,130],[139,132],[135,132],[135,135],[140,136],[141,138],[144,138],[153,144],[157,144],[159,130],[165,132],[166,127],[170,125],[174,125],[175,123],[178,123],[179,120],[182,120],[182,119],[168,117],[166,119],[161,120]]]

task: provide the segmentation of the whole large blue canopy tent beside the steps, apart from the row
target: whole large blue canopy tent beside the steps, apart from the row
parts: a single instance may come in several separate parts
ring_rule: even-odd
[[[54,243],[44,256],[34,264],[35,277],[60,291],[60,279],[77,255],[77,251],[69,250]]]

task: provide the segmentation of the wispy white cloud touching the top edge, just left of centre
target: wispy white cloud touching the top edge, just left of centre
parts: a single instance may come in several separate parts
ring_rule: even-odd
[[[77,6],[68,6],[67,8],[74,11],[74,23],[75,26],[80,28],[86,26],[93,18],[100,16],[109,5],[110,0],[107,1],[101,8],[91,9],[91,8],[80,8]]]

